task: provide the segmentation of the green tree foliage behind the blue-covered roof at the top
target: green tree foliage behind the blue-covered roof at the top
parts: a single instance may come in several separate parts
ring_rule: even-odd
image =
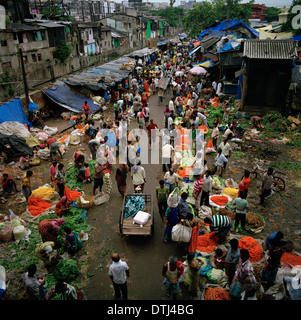
[[[184,28],[190,36],[197,36],[215,22],[229,19],[243,20],[249,25],[254,0],[241,4],[241,0],[205,0],[194,4],[184,17]]]

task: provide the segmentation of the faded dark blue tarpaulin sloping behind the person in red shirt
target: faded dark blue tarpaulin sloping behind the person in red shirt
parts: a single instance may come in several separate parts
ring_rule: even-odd
[[[92,99],[74,94],[65,84],[53,86],[42,92],[55,103],[73,112],[83,112],[85,101],[90,106],[91,112],[99,108]]]

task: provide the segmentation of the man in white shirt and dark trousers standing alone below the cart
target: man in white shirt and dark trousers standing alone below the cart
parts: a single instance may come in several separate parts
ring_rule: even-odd
[[[112,253],[112,264],[109,268],[109,277],[113,282],[113,287],[115,291],[115,299],[121,299],[121,293],[123,300],[127,300],[128,293],[127,293],[127,277],[130,276],[129,266],[126,262],[120,259],[118,253]]]

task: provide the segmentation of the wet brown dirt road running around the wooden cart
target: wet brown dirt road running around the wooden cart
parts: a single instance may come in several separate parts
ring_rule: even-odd
[[[150,97],[150,119],[157,123],[159,129],[163,128],[163,110],[170,97],[171,94],[167,94],[160,106],[157,103],[157,95]],[[130,129],[137,127],[137,122],[133,120]],[[118,252],[121,259],[129,265],[128,291],[131,300],[165,299],[162,295],[163,264],[171,255],[176,255],[179,259],[185,255],[183,245],[178,245],[175,242],[168,244],[163,242],[162,235],[165,227],[161,222],[155,198],[155,188],[164,176],[162,165],[148,164],[143,166],[146,170],[147,181],[144,193],[153,196],[154,233],[150,237],[126,237],[120,234],[119,220],[123,198],[113,180],[116,172],[116,168],[114,168],[111,173],[113,190],[110,200],[99,207],[91,208],[88,215],[88,222],[93,226],[87,249],[89,254],[88,274],[93,275],[83,283],[88,300],[114,299],[112,282],[108,276],[108,268],[111,264],[110,256],[113,251]],[[127,193],[133,192],[131,177],[128,174]],[[179,298],[184,299],[184,292],[179,293]]]

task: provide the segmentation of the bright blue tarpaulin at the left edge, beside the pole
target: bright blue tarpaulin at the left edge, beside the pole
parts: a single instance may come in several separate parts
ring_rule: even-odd
[[[28,128],[32,127],[26,118],[21,99],[15,99],[0,106],[0,123],[6,121],[17,121],[26,124]]]

